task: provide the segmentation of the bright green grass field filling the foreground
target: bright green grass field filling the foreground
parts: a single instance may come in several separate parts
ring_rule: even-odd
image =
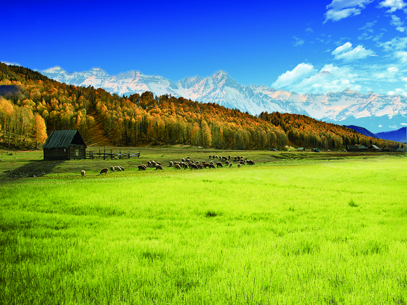
[[[186,153],[208,160],[150,150],[0,180],[0,303],[407,301],[405,155],[242,152],[260,162],[137,171]],[[98,175],[110,164],[126,171]]]

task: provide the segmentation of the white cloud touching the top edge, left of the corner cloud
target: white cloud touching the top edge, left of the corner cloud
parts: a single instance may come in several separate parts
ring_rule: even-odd
[[[324,14],[325,21],[339,21],[349,16],[356,16],[373,0],[333,0],[327,5],[327,12]]]

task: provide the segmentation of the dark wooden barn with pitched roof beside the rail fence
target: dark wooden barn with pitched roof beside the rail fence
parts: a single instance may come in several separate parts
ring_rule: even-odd
[[[44,160],[85,159],[86,144],[77,130],[52,131],[42,148]]]

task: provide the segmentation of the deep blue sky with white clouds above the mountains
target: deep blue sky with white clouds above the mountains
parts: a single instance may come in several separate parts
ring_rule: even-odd
[[[0,61],[407,95],[406,14],[403,0],[8,2]]]

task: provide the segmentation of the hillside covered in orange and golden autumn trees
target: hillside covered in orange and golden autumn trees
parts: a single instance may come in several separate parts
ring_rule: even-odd
[[[378,140],[306,116],[262,113],[259,117],[218,104],[151,92],[119,97],[103,89],[75,87],[27,68],[0,63],[0,85],[18,94],[0,97],[0,142],[43,143],[52,130],[77,129],[92,143],[95,124],[118,146],[194,145],[217,149],[270,149],[286,145],[343,148],[346,144],[399,143]],[[45,129],[46,128],[46,129]]]

